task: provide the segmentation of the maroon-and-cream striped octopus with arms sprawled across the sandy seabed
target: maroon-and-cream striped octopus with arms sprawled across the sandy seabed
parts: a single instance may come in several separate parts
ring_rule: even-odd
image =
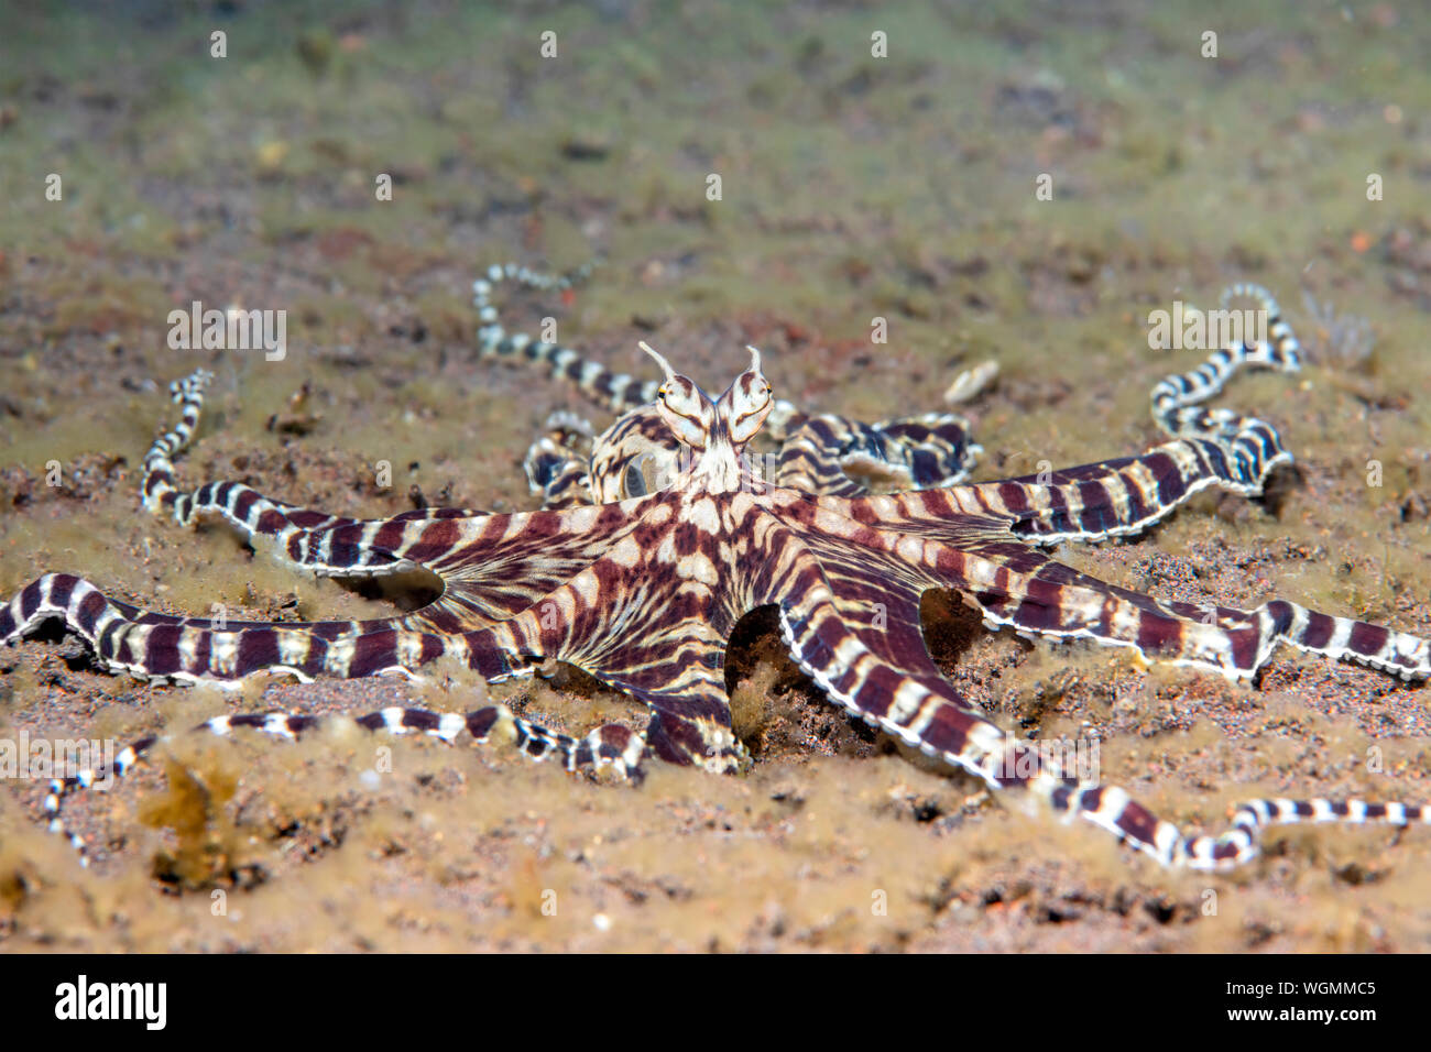
[[[1268,799],[1242,804],[1222,834],[1183,834],[1116,786],[1045,766],[1033,744],[1006,734],[960,697],[924,646],[922,595],[954,590],[995,628],[1130,647],[1149,660],[1238,680],[1249,678],[1278,643],[1407,680],[1431,676],[1431,646],[1422,638],[1282,600],[1256,610],[1165,603],[1039,550],[1135,534],[1206,487],[1256,495],[1268,472],[1291,459],[1268,424],[1199,406],[1239,365],[1299,368],[1296,341],[1271,296],[1255,286],[1231,292],[1262,301],[1271,339],[1219,351],[1195,372],[1159,384],[1153,415],[1169,441],[1043,478],[884,495],[851,487],[839,467],[840,449],[821,445],[819,435],[797,444],[788,461],[781,451],[771,478],[753,469],[747,448],[777,408],[753,348],[750,368],[714,399],[645,348],[665,374],[655,404],[622,417],[587,464],[600,500],[634,482],[634,459],[648,461],[643,472],[654,462],[660,485],[650,492],[522,514],[436,508],[373,521],[282,504],[233,482],[180,492],[172,457],[192,438],[207,379],[195,374],[173,386],[182,422],[146,457],[150,511],[170,511],[180,524],[226,520],[250,537],[272,538],[280,558],[321,575],[426,567],[441,578],[442,595],[415,613],[372,621],[219,627],[140,611],[82,578],[49,574],[0,608],[0,638],[14,641],[39,621],[62,617],[116,671],[177,681],[236,683],[263,670],[305,677],[412,673],[441,656],[502,680],[558,658],[644,701],[647,730],[607,724],[571,739],[502,706],[467,716],[392,707],[359,723],[448,741],[462,733],[478,741],[504,733],[531,756],[560,756],[568,769],[638,776],[643,761],[655,757],[726,773],[748,763],[731,729],[726,640],[746,613],[774,605],[788,653],[833,701],[972,771],[1000,797],[1085,819],[1165,866],[1236,866],[1256,854],[1261,829],[1274,823],[1428,822],[1431,809],[1408,804]],[[501,331],[484,333],[485,351],[507,339]],[[527,356],[554,361],[560,351],[544,345]],[[786,484],[786,468],[813,485]],[[821,479],[830,485],[821,488]],[[292,737],[313,721],[270,713],[218,717],[202,727]],[[116,773],[152,744],[146,739],[124,750]],[[64,793],[93,777],[84,771],[53,784],[46,802],[53,827],[63,829]]]

